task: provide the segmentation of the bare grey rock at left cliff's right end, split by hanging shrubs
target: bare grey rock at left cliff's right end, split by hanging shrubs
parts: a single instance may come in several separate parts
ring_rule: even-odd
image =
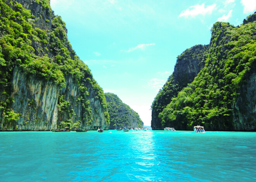
[[[66,87],[61,89],[60,94],[64,95],[64,100],[69,103],[69,106],[66,110],[67,112],[59,112],[57,121],[61,122],[70,119],[73,123],[80,123],[81,128],[87,127],[88,130],[97,129],[99,126],[101,126],[104,130],[109,129],[109,125],[106,123],[104,116],[106,109],[102,107],[102,103],[99,99],[97,99],[97,93],[91,87],[91,84],[84,84],[88,90],[88,96],[86,97],[88,105],[87,108],[84,108],[83,101],[85,100],[81,99],[81,95],[83,93],[80,92],[79,86],[74,78],[69,75],[65,77],[65,80]],[[88,115],[92,117],[88,118]],[[91,123],[88,121],[88,119],[91,120]]]

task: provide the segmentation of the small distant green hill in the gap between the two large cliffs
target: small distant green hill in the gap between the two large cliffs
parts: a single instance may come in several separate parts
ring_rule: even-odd
[[[115,128],[142,128],[143,122],[137,112],[133,111],[128,105],[115,94],[105,93],[107,100],[107,110],[110,116],[109,129]]]

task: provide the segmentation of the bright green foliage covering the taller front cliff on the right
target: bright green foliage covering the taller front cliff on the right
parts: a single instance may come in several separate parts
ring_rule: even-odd
[[[205,66],[192,83],[169,98],[171,102],[159,114],[162,127],[186,130],[200,124],[208,130],[235,130],[235,103],[239,95],[244,95],[242,87],[256,72],[255,17],[256,14],[250,15],[237,27],[224,22],[213,25]],[[253,108],[242,112],[253,112]],[[248,119],[239,130],[245,125],[255,129],[254,121],[255,118]]]

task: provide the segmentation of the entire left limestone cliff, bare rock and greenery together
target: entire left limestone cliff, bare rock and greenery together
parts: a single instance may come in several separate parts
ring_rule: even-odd
[[[0,0],[0,130],[109,128],[102,88],[48,0]]]

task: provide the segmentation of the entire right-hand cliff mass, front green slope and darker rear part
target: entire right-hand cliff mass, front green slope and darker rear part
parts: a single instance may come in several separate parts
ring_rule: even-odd
[[[197,76],[191,77],[192,82],[174,81],[173,75],[187,74],[175,73],[177,61],[173,75],[159,91],[152,104],[152,129],[192,130],[201,125],[208,131],[256,131],[255,27],[256,12],[237,27],[216,22]],[[181,70],[188,70],[188,65]]]

